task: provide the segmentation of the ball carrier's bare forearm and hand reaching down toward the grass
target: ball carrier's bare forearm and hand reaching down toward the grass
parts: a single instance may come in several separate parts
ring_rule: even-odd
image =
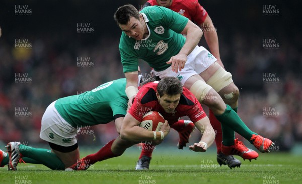
[[[189,149],[195,152],[205,152],[211,146],[215,139],[215,131],[206,116],[195,123],[196,128],[203,134],[199,143],[189,146]]]

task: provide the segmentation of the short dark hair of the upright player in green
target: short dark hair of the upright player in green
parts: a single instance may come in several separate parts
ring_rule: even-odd
[[[136,19],[139,20],[139,12],[131,4],[127,4],[119,7],[113,16],[117,24],[123,24],[123,25],[126,25],[131,17],[135,17]]]

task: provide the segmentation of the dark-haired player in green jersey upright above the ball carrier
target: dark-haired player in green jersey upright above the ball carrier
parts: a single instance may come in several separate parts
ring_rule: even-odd
[[[221,122],[225,155],[241,156],[249,151],[235,139],[237,132],[261,152],[269,152],[274,143],[251,131],[231,106],[222,99],[239,95],[238,89],[228,88],[233,82],[216,58],[197,44],[202,30],[188,18],[165,7],[145,7],[140,12],[133,5],[118,8],[114,19],[123,31],[119,49],[127,79],[126,94],[132,102],[137,94],[138,59],[145,60],[160,78],[177,77],[200,103],[207,105]],[[186,38],[183,35],[186,35]],[[221,96],[216,92],[219,91]],[[130,104],[131,105],[131,104]],[[249,159],[256,159],[252,155]]]

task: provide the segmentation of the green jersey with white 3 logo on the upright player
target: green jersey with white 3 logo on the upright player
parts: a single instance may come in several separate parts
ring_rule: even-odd
[[[143,40],[135,40],[124,32],[119,49],[123,71],[137,71],[138,59],[146,61],[155,71],[163,71],[172,56],[179,53],[185,44],[180,33],[188,23],[188,18],[165,7],[149,6],[140,11],[147,24],[149,35]]]

